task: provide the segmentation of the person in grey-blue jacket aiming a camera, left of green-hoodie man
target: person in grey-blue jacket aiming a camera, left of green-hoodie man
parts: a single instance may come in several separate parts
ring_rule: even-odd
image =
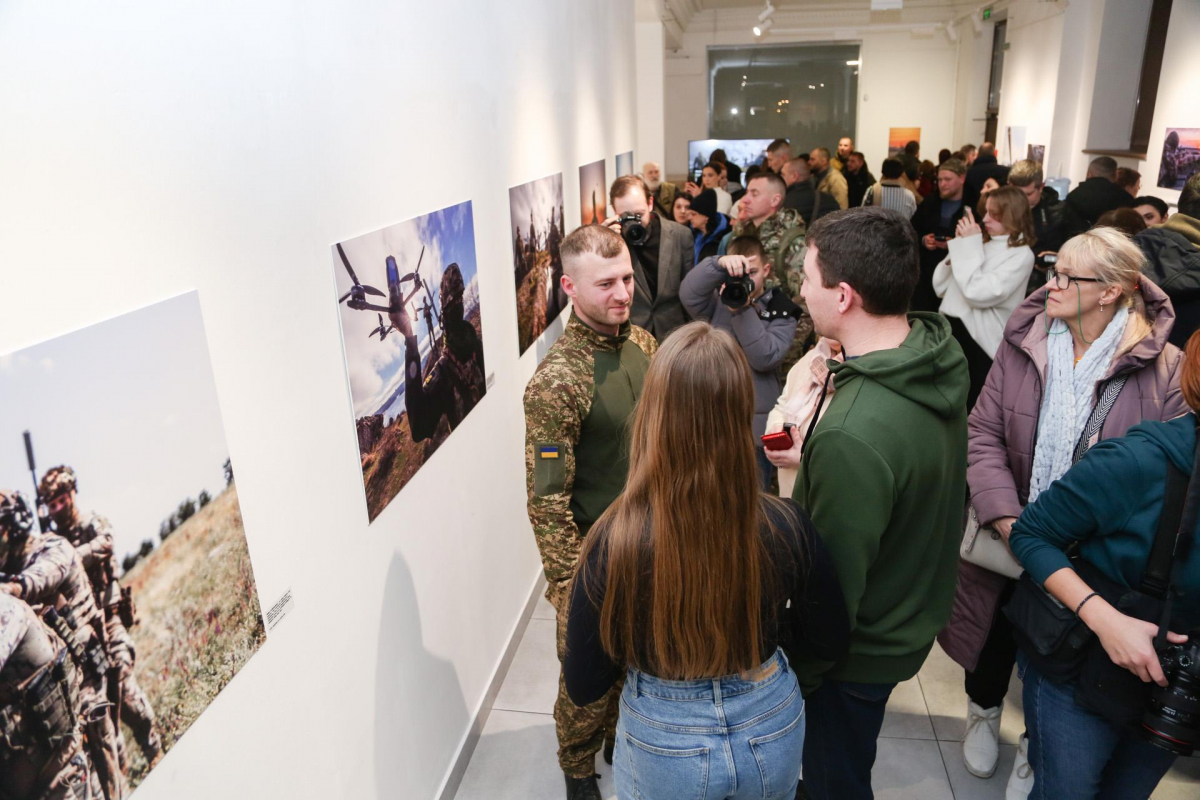
[[[761,241],[738,236],[727,255],[706,258],[679,288],[688,313],[732,333],[754,369],[754,432],[763,489],[770,485],[774,467],[763,455],[762,434],[779,399],[779,366],[802,314],[785,290],[767,285],[770,267]]]

